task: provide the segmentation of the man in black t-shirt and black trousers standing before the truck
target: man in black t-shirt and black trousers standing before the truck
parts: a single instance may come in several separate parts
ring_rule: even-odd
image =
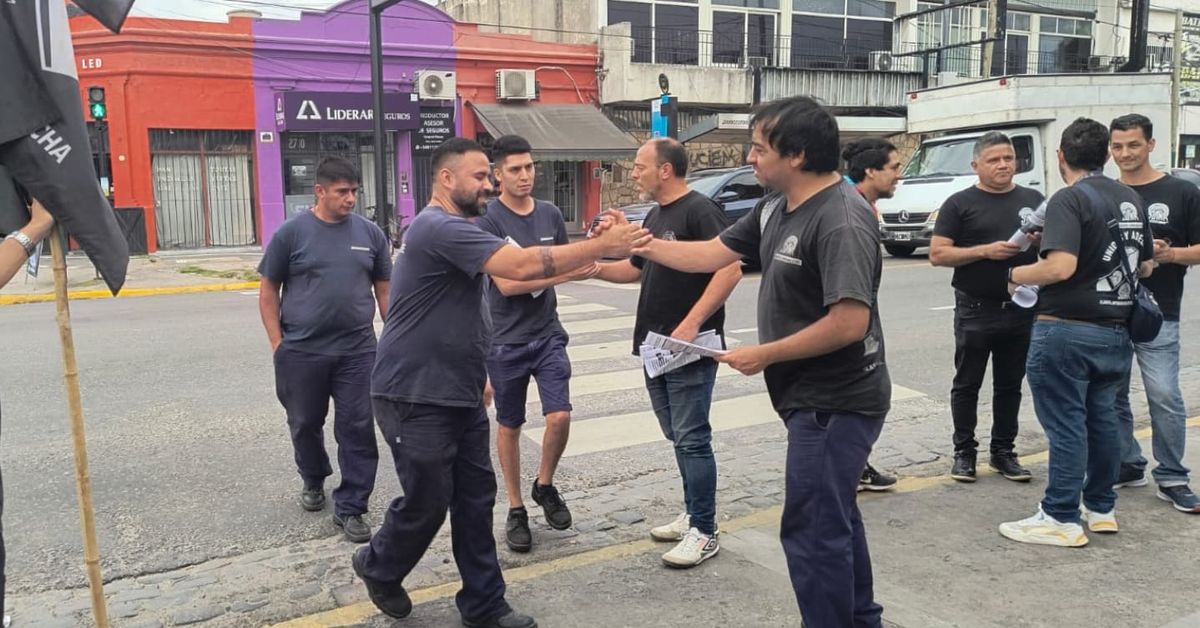
[[[942,203],[929,246],[935,267],[954,268],[954,465],[950,477],[976,480],[974,430],[979,387],[991,359],[990,466],[1014,482],[1032,476],[1016,460],[1016,417],[1021,408],[1021,381],[1030,348],[1033,312],[1018,307],[1004,289],[1008,269],[1037,259],[1033,243],[1010,243],[1022,220],[1042,204],[1037,190],[1013,183],[1016,152],[1001,132],[980,137],[971,167],[979,181]],[[1037,227],[1040,231],[1040,227]],[[1038,238],[1038,235],[1033,235]]]

